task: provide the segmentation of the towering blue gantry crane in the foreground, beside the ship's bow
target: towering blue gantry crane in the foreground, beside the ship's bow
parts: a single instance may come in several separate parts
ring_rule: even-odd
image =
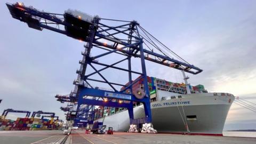
[[[6,5],[14,19],[26,22],[30,28],[49,29],[86,42],[85,50],[81,53],[83,58],[79,61],[81,66],[76,71],[78,76],[73,82],[74,91],[68,95],[56,95],[58,101],[72,103],[73,106],[70,107],[68,115],[69,119],[75,123],[81,121],[92,123],[94,106],[123,107],[129,112],[130,124],[151,123],[150,93],[145,61],[190,74],[198,74],[202,71],[171,51],[169,47],[141,27],[137,21],[105,19],[98,15],[92,17],[89,14],[72,10],[67,10],[64,14],[49,13],[39,11],[32,6],[25,6],[23,3],[6,3]],[[112,21],[118,24],[109,26],[107,23]],[[92,51],[97,49],[101,52],[97,51],[97,54],[92,56]],[[99,62],[98,59],[110,54],[116,54],[118,55],[116,58],[122,59],[111,64]],[[141,65],[141,71],[132,70],[132,65],[134,65],[132,58],[140,60],[136,64]],[[127,68],[118,66],[121,62],[126,62]],[[102,68],[97,69],[97,66]],[[92,73],[89,67],[93,70]],[[110,82],[109,78],[102,74],[102,71],[110,68],[124,71],[129,83]],[[95,74],[98,74],[101,79],[92,78]],[[133,92],[132,86],[140,79],[132,81],[132,75],[140,75],[143,79],[143,89],[136,93]],[[111,90],[100,89],[91,84],[96,82],[107,84]],[[125,88],[119,90],[118,86]],[[143,103],[144,118],[134,119],[133,102]]]

